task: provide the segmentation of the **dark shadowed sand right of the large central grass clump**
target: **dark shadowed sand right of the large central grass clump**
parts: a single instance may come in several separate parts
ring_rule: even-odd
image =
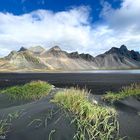
[[[108,105],[102,101],[102,95],[91,95],[101,105]],[[124,140],[140,140],[140,101],[133,97],[115,102],[114,107],[118,112],[120,136]]]

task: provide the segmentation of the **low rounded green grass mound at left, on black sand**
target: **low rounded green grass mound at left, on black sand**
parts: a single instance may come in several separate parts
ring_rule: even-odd
[[[48,95],[52,85],[43,81],[32,81],[22,86],[13,86],[1,90],[1,94],[7,94],[11,99],[36,100]]]

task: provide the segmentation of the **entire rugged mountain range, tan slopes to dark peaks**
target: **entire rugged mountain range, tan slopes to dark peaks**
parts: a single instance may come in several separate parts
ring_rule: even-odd
[[[138,69],[140,53],[125,45],[93,57],[90,54],[68,53],[54,46],[49,50],[41,46],[21,47],[0,58],[1,71],[74,71],[93,69]]]

